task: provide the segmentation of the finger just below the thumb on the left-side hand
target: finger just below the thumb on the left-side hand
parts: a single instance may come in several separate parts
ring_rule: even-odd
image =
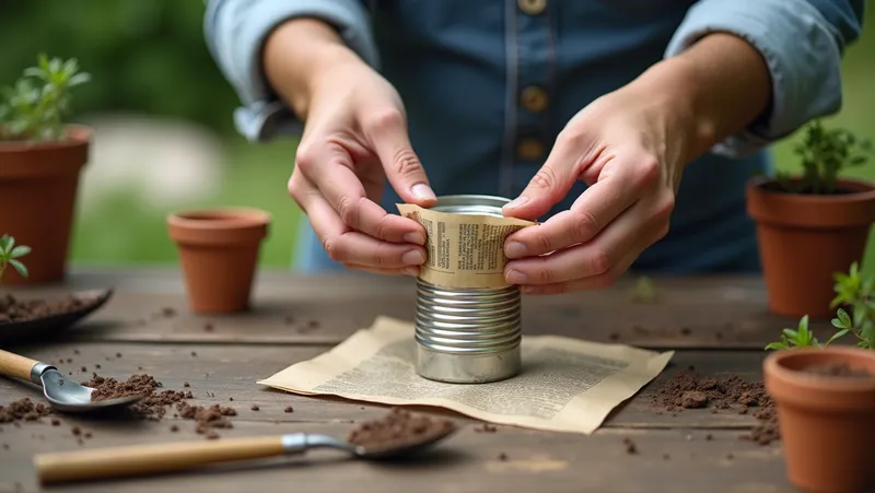
[[[425,243],[425,230],[418,222],[385,209],[366,196],[361,178],[355,175],[349,153],[339,144],[307,148],[296,157],[298,166],[332,206],[343,223],[392,243]]]

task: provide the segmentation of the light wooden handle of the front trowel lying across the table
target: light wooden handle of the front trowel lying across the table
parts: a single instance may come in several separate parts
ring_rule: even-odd
[[[38,454],[34,456],[34,466],[42,482],[58,483],[165,472],[282,454],[282,437],[265,436]]]

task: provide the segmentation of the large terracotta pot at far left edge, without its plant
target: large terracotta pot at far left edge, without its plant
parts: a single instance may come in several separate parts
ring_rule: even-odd
[[[63,280],[91,138],[92,129],[71,125],[62,142],[0,142],[0,235],[33,249],[22,258],[28,277],[7,269],[3,284]]]

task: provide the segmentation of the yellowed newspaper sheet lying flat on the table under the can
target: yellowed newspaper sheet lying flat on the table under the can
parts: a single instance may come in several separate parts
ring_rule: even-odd
[[[524,337],[522,344],[518,376],[444,384],[416,373],[412,324],[380,317],[330,351],[258,384],[301,395],[434,406],[498,424],[588,435],[674,355],[556,336]]]

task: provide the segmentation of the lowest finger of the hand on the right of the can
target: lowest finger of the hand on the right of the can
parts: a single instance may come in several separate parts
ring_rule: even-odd
[[[505,266],[511,284],[549,285],[599,277],[637,257],[667,228],[667,218],[653,211],[653,201],[641,201],[605,228],[593,242],[541,257],[513,260]]]

